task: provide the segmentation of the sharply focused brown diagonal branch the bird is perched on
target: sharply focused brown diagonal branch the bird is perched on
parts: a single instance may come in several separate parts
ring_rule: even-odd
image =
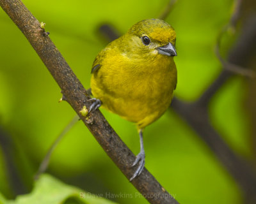
[[[116,135],[99,110],[90,113],[89,120],[81,115],[79,111],[83,106],[90,106],[89,96],[49,36],[44,34],[45,31],[40,27],[40,22],[19,0],[0,0],[0,5],[49,69],[67,102],[74,108],[116,166],[127,179],[130,179],[136,170],[136,166],[131,168],[135,159],[134,154]],[[132,180],[132,184],[150,203],[178,203],[146,169],[142,171],[140,177]]]

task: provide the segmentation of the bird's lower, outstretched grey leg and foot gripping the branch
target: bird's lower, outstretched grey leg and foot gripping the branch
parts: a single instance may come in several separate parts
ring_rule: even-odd
[[[132,179],[134,179],[135,177],[138,177],[138,175],[141,174],[141,172],[143,171],[144,165],[145,165],[145,150],[144,150],[144,145],[143,145],[142,129],[140,129],[140,153],[136,156],[136,159],[135,159],[134,163],[132,164],[132,166],[135,166],[139,161],[140,161],[139,166],[136,169],[136,171],[134,172],[134,174],[132,175],[130,181],[132,181]]]

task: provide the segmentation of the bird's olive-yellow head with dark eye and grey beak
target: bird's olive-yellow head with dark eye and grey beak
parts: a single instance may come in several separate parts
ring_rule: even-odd
[[[135,55],[154,57],[157,55],[177,56],[175,50],[176,33],[173,27],[163,20],[141,20],[132,25],[124,35],[125,51]],[[128,49],[128,50],[127,50]]]

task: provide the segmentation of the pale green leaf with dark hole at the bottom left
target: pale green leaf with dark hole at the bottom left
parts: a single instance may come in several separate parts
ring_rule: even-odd
[[[0,204],[113,204],[113,201],[99,198],[91,193],[64,184],[51,175],[41,175],[33,191],[17,196],[15,201],[5,201],[0,194]]]

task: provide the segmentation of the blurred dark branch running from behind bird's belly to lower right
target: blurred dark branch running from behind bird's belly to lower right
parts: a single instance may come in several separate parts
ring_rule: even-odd
[[[247,198],[256,200],[256,175],[252,166],[239,157],[217,131],[211,126],[206,107],[198,103],[184,103],[174,98],[172,108],[193,128],[198,136],[208,145],[218,157],[221,164],[236,180]]]

